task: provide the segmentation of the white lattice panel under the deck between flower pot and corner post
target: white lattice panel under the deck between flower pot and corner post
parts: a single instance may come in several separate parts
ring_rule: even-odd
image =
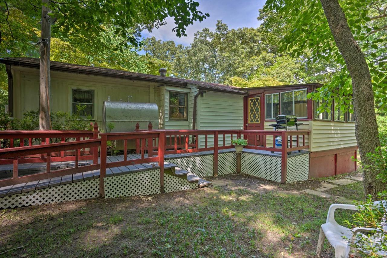
[[[241,173],[281,182],[281,157],[241,153]]]

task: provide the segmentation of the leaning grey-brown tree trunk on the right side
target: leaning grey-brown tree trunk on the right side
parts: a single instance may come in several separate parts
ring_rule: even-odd
[[[380,146],[380,142],[378,139],[370,70],[363,52],[361,52],[358,43],[353,38],[339,2],[337,0],[320,1],[327,17],[330,31],[341,55],[344,57],[352,78],[353,109],[356,118],[355,135],[359,146],[360,158],[365,165],[372,166],[372,162],[366,157],[366,154],[374,153],[375,148]],[[376,179],[376,175],[380,171],[363,169],[365,193],[371,194],[376,199],[377,193],[385,190],[386,184],[381,179]]]

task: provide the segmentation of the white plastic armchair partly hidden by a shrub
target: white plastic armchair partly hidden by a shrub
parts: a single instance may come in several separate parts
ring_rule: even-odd
[[[374,201],[374,205],[379,205],[383,203],[386,206],[386,201]],[[317,243],[316,258],[320,258],[321,249],[324,244],[325,237],[329,243],[335,249],[335,258],[348,258],[350,253],[356,253],[356,250],[351,248],[351,244],[354,243],[357,234],[361,232],[372,232],[372,228],[366,227],[355,227],[354,229],[348,229],[342,225],[337,224],[334,213],[336,209],[346,209],[346,210],[358,210],[358,207],[355,205],[349,204],[332,204],[329,207],[327,221],[325,224],[321,225],[319,242]],[[387,227],[384,227],[384,230]],[[382,233],[380,230],[377,230],[378,233]],[[347,239],[343,238],[345,236]],[[348,240],[350,239],[350,240]],[[380,240],[380,235],[374,235],[373,239],[375,241]],[[380,255],[387,255],[387,253],[381,253]]]

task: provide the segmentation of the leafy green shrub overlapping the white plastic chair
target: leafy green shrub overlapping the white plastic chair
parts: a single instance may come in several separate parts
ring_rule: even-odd
[[[386,198],[386,191],[378,194],[379,200],[386,200]],[[359,210],[352,215],[351,222],[346,220],[345,224],[350,227],[373,228],[375,230],[370,234],[375,234],[377,233],[377,230],[379,230],[384,237],[382,237],[380,241],[372,241],[372,237],[369,237],[368,234],[358,234],[351,246],[358,249],[360,255],[363,257],[382,257],[378,255],[377,252],[387,252],[387,238],[385,237],[387,232],[384,230],[387,207],[383,205],[383,203],[375,205],[371,195],[368,196],[365,202],[357,203],[356,206]]]

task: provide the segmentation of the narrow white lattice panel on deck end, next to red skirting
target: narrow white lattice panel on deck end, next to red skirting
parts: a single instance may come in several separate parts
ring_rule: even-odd
[[[286,163],[286,182],[297,182],[309,179],[309,153],[290,156]]]

